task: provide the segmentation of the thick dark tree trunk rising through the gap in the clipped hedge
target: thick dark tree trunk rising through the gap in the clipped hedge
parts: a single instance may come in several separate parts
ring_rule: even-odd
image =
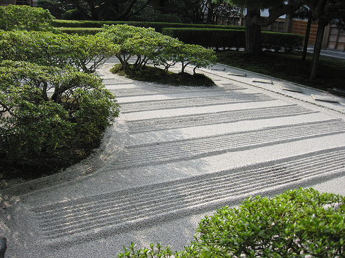
[[[255,8],[247,9],[246,14],[246,52],[262,52],[262,33],[261,26],[255,23],[255,19],[260,17],[260,10]]]

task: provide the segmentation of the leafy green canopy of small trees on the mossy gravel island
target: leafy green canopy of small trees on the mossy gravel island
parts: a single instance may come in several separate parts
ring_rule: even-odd
[[[164,65],[165,71],[177,62],[184,67],[189,63],[197,67],[206,67],[215,63],[213,50],[206,50],[199,45],[184,45],[170,36],[155,32],[152,28],[139,28],[130,25],[111,25],[99,33],[112,43],[119,45],[120,51],[115,54],[122,69],[132,56],[137,56],[135,67],[144,68],[148,62],[155,66]]]

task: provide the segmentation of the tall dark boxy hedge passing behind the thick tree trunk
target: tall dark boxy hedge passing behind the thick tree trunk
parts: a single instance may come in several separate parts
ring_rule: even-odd
[[[226,30],[209,28],[163,28],[162,33],[188,44],[203,47],[240,48],[246,47],[245,30]],[[262,32],[265,50],[284,50],[290,52],[303,45],[304,36],[288,33]]]

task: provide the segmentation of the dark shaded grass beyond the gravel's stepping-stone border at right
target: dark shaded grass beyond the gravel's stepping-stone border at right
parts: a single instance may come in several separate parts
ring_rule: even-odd
[[[281,78],[317,89],[345,89],[345,62],[320,58],[317,78],[310,80],[311,57],[301,54],[263,52],[255,55],[238,51],[218,51],[217,62],[248,71]]]

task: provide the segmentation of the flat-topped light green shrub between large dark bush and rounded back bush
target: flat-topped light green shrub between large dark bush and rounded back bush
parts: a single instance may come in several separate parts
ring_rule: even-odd
[[[119,46],[102,35],[0,32],[0,60],[57,67],[70,65],[90,73],[118,51]]]

